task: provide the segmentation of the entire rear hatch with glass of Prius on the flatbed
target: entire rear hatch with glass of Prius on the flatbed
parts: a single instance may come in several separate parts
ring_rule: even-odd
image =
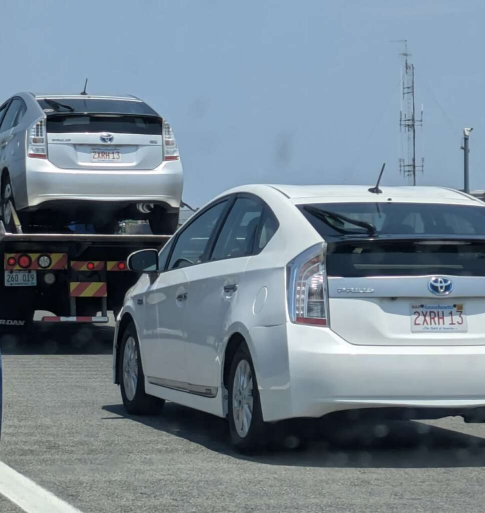
[[[47,114],[48,159],[60,168],[148,170],[163,161],[163,120],[143,102],[38,102]]]

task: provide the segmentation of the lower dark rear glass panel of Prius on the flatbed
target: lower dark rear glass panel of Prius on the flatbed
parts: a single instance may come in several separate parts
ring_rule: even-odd
[[[114,132],[161,135],[161,120],[147,116],[57,114],[47,118],[49,133]]]

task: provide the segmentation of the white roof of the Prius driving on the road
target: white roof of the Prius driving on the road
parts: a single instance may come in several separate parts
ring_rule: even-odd
[[[370,192],[370,185],[247,185],[227,191],[252,192],[263,198],[275,191],[294,204],[338,202],[406,202],[406,203],[454,203],[484,206],[483,202],[462,191],[447,187],[396,186],[380,187],[380,194]]]

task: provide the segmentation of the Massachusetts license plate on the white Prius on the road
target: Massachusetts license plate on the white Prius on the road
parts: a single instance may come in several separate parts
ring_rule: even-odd
[[[411,331],[468,331],[463,304],[412,304]]]

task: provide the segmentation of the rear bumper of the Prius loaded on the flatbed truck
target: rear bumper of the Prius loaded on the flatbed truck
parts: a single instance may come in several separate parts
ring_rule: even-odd
[[[180,207],[183,170],[179,160],[147,171],[61,169],[50,161],[29,158],[26,164],[27,208],[31,210],[54,201],[143,202]]]

